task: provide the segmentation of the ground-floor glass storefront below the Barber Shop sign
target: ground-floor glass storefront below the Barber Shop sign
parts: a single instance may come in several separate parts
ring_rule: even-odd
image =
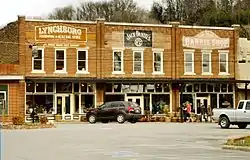
[[[180,93],[180,100],[181,96],[183,105],[191,104],[192,112],[195,114],[201,113],[202,104],[211,109],[235,107],[234,84],[187,83],[182,95]]]

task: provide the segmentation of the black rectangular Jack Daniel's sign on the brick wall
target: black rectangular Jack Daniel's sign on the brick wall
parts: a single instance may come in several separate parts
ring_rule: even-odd
[[[152,31],[125,30],[125,47],[152,47]]]

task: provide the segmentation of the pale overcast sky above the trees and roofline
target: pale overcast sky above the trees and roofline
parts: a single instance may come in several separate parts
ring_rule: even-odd
[[[76,5],[86,0],[1,0],[0,26],[17,19],[17,15],[30,17],[46,16],[56,7],[68,4]],[[98,1],[98,0],[93,0]],[[149,9],[153,0],[135,0],[143,7]]]

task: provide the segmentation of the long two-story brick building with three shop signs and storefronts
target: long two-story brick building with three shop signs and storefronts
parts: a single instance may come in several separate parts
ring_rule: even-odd
[[[0,57],[16,63],[16,74],[25,78],[19,83],[26,89],[12,90],[19,90],[13,96],[21,103],[9,104],[9,110],[27,119],[32,103],[39,113],[65,120],[79,119],[87,108],[111,100],[135,101],[143,114],[162,114],[164,108],[176,112],[188,102],[195,113],[201,103],[235,106],[236,28],[22,16],[13,24],[15,29],[9,24],[1,32],[15,40],[1,36],[1,49],[7,42],[18,45],[14,50],[8,45]]]

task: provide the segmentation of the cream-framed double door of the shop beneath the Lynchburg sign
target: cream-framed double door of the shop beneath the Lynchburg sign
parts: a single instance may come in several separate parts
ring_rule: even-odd
[[[70,95],[56,95],[56,113],[62,116],[62,120],[72,120],[73,115],[70,108]]]

